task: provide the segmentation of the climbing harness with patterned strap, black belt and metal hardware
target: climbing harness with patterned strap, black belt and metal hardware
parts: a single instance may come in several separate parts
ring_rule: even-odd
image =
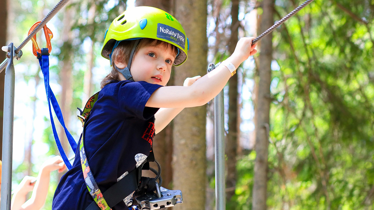
[[[162,184],[161,167],[157,160],[154,159],[153,149],[147,160],[145,160],[138,168],[129,172],[126,176],[116,182],[107,191],[101,192],[95,178],[92,175],[84,146],[85,137],[85,122],[88,119],[91,109],[97,101],[99,92],[95,93],[88,99],[83,110],[79,109],[79,120],[82,122],[83,132],[79,144],[80,161],[82,165],[83,177],[89,193],[93,198],[93,202],[86,208],[86,210],[110,210],[119,202],[125,201],[124,198],[134,195],[131,200],[127,201],[127,206],[136,206],[139,210],[157,210],[165,209],[167,207],[175,206],[183,203],[182,192],[180,190],[168,190],[159,187]],[[155,161],[158,171],[149,167],[149,162]],[[151,170],[156,174],[155,178],[142,177],[142,170]],[[159,182],[157,182],[157,179]],[[154,191],[156,190],[156,193]]]

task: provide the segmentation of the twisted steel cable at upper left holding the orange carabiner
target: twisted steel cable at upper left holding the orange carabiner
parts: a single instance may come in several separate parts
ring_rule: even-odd
[[[33,37],[38,31],[40,31],[40,29],[43,28],[43,26],[51,19],[53,18],[53,16],[56,15],[56,13],[63,7],[65,6],[65,4],[68,2],[69,0],[60,0],[55,7],[53,7],[53,9],[48,13],[48,15],[43,19],[42,22],[40,22],[39,25],[37,25],[37,27],[35,27],[35,29],[27,36],[27,38],[25,39],[25,41],[23,41],[15,50],[15,53],[18,53],[19,50],[22,49],[22,47],[25,46],[25,44],[31,40],[31,37]],[[4,68],[6,67],[8,63],[8,60],[5,59],[3,62],[1,62],[1,65],[0,65],[0,73],[4,70]]]

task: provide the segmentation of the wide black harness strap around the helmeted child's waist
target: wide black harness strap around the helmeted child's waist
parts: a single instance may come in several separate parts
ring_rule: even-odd
[[[132,170],[128,175],[116,182],[107,191],[103,192],[102,196],[107,201],[110,208],[113,208],[117,203],[123,202],[127,196],[138,189],[138,169]],[[101,210],[95,201],[86,208],[86,210]]]

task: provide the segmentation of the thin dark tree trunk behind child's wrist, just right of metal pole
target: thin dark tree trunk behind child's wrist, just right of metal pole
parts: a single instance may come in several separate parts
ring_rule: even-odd
[[[231,55],[236,47],[238,41],[238,28],[240,22],[239,15],[239,0],[232,0],[231,6],[231,35],[229,40],[229,54]],[[236,155],[238,145],[238,89],[237,89],[237,74],[234,74],[229,80],[229,132],[227,133],[226,155],[227,155],[227,178],[226,178],[226,200],[229,201],[235,194],[236,185]]]

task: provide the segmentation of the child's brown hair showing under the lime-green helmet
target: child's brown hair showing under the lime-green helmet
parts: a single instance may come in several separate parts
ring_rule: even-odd
[[[126,40],[126,41],[121,41],[118,46],[113,50],[113,53],[111,55],[111,65],[112,65],[112,70],[110,73],[104,77],[101,80],[100,83],[100,88],[102,89],[105,85],[111,83],[112,80],[118,80],[120,81],[119,74],[120,72],[117,71],[114,68],[114,61],[120,62],[127,64],[129,59],[130,59],[130,53],[132,50],[132,47],[135,44],[135,40]],[[172,50],[172,52],[177,55],[178,53],[178,48],[170,43],[167,43],[165,41],[153,39],[153,38],[142,38],[138,44],[138,46],[135,48],[134,55],[138,52],[139,49],[142,47],[148,47],[148,46],[158,46],[161,45],[165,47],[167,50]],[[134,57],[133,57],[134,59]]]

